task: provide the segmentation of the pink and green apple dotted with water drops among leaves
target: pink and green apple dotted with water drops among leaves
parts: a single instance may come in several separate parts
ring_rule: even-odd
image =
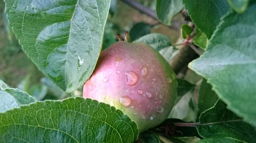
[[[83,98],[120,109],[139,132],[162,123],[176,97],[176,74],[163,56],[148,45],[124,41],[101,52],[83,87]]]

